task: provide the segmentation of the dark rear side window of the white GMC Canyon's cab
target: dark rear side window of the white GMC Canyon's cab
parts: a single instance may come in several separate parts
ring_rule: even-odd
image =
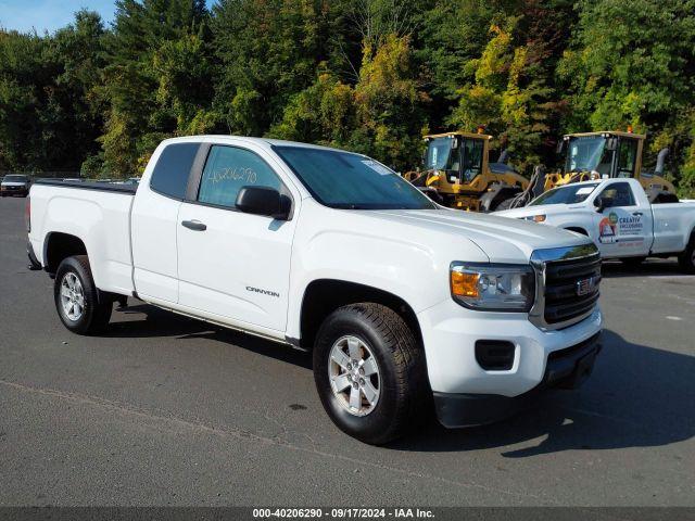
[[[168,144],[154,165],[150,188],[163,195],[184,200],[199,147],[200,143]]]

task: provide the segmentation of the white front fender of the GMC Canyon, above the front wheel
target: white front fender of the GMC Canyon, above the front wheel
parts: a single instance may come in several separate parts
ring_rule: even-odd
[[[419,231],[399,221],[303,204],[292,247],[287,334],[300,336],[302,300],[320,279],[340,280],[397,296],[414,313],[451,298],[451,262],[489,262],[468,239]]]

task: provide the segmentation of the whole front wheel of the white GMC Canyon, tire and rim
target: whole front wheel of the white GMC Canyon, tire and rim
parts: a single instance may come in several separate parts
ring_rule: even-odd
[[[343,306],[326,318],[314,380],[333,423],[365,443],[402,436],[426,408],[422,350],[405,321],[380,304]]]

